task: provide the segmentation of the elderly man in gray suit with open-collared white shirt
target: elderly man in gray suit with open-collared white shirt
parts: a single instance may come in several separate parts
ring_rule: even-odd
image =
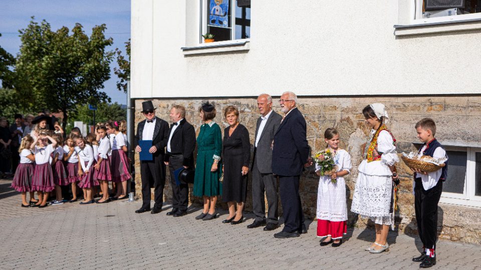
[[[279,227],[278,220],[278,186],[277,178],[272,173],[272,141],[274,133],[281,124],[282,116],[272,110],[272,97],[261,94],[257,98],[257,107],[261,117],[257,119],[256,141],[252,162],[252,205],[256,218],[248,228],[264,226],[264,230]],[[267,195],[268,214],[266,222],[266,206],[264,192]]]

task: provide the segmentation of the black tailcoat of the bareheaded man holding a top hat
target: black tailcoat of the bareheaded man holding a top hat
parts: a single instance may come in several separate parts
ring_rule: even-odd
[[[170,130],[173,125],[170,125],[169,132],[167,133],[167,140],[169,140]],[[195,129],[194,127],[183,118],[179,126],[175,128],[172,138],[170,139],[170,152],[167,151],[165,155],[165,161],[169,161],[170,154],[182,154],[184,160],[182,165],[193,168],[194,167],[194,149],[195,149]]]

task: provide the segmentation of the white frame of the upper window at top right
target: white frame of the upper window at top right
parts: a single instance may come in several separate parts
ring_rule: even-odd
[[[411,16],[410,24],[417,25],[417,24],[426,24],[426,23],[442,23],[442,22],[461,22],[465,20],[473,20],[473,19],[481,19],[481,12],[478,13],[471,13],[471,14],[461,14],[455,16],[443,16],[443,17],[434,17],[434,18],[423,18],[422,17],[422,3],[423,0],[411,0]]]

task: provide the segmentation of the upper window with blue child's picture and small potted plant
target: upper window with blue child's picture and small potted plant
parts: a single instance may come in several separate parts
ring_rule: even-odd
[[[251,37],[251,0],[202,0],[201,35],[214,41]],[[204,38],[200,36],[200,43]]]

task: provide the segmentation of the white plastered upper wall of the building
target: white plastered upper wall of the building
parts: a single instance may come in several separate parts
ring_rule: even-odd
[[[396,37],[396,0],[253,0],[250,50],[196,55],[200,1],[176,3],[132,1],[134,98],[481,93],[479,31]]]

